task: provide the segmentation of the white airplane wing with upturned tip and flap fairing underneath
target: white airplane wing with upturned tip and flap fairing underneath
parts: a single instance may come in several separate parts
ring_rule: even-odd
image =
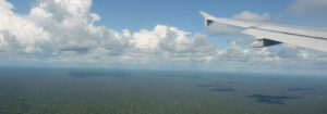
[[[199,13],[205,17],[205,26],[217,22],[246,28],[242,33],[254,36],[257,39],[251,45],[253,48],[269,47],[284,42],[327,52],[327,31],[233,18],[218,18],[205,12]]]

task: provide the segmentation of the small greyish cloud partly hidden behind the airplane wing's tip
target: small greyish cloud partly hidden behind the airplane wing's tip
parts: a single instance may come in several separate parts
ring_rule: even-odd
[[[240,14],[235,14],[234,16],[232,16],[232,18],[252,22],[267,22],[270,20],[270,15],[268,13],[264,13],[261,15],[250,11],[243,11]],[[213,25],[208,26],[207,29],[213,35],[230,35],[240,33],[242,30],[242,28],[221,23],[214,23]]]

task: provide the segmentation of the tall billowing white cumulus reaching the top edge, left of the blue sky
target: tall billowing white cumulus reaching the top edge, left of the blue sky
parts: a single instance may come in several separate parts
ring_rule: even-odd
[[[130,36],[105,26],[95,26],[100,16],[90,13],[92,0],[38,0],[29,20],[49,31],[55,54],[88,52],[101,48],[108,54],[120,54]]]

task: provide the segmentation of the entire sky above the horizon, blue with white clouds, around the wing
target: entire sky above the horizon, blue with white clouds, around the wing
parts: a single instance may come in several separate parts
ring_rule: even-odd
[[[327,54],[252,49],[218,17],[327,28],[327,0],[0,0],[3,66],[325,74]]]

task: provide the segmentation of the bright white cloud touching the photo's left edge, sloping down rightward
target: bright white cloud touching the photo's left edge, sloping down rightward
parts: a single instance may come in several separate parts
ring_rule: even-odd
[[[51,35],[34,22],[13,13],[13,7],[9,2],[0,0],[0,34],[8,36],[3,38],[7,40],[2,40],[1,46],[13,47],[9,41],[14,41],[22,52],[41,52],[40,45],[48,43]]]

